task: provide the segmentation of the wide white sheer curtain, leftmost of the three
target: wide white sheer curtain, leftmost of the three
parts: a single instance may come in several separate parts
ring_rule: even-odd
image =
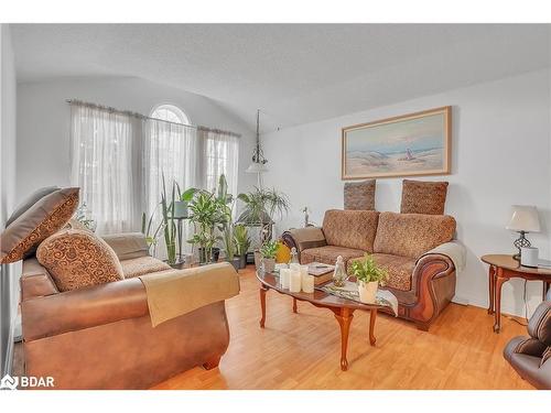
[[[139,229],[133,153],[141,120],[106,108],[72,105],[71,182],[80,187],[98,233]]]

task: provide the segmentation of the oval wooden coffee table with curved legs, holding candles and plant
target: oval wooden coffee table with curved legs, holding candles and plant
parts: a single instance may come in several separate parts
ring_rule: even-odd
[[[315,290],[313,293],[291,293],[288,289],[283,289],[279,282],[279,275],[273,273],[261,273],[257,271],[257,279],[260,281],[260,307],[262,309],[262,318],[260,318],[260,327],[264,328],[266,323],[266,293],[269,290],[277,291],[280,294],[293,297],[293,312],[296,313],[296,300],[305,301],[310,304],[327,308],[333,312],[341,327],[341,370],[348,369],[348,360],[346,351],[348,348],[348,333],[350,332],[350,323],[354,318],[356,309],[363,309],[370,313],[369,317],[369,344],[375,346],[375,322],[377,319],[377,311],[387,307],[378,304],[363,304],[353,300],[337,297]]]

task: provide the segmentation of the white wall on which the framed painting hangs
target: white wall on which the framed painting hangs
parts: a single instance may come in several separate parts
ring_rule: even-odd
[[[457,237],[468,250],[456,297],[487,306],[487,269],[479,257],[512,252],[515,235],[505,229],[512,204],[537,205],[543,233],[530,235],[551,258],[550,79],[533,72],[364,112],[303,124],[263,138],[270,171],[264,182],[290,196],[292,214],[280,230],[302,225],[303,206],[321,222],[328,208],[343,207],[341,128],[441,106],[453,106],[452,174],[446,213],[457,220]],[[423,178],[422,178],[423,180]],[[401,178],[378,180],[378,210],[398,211]],[[504,286],[503,309],[523,314],[523,283]],[[541,301],[541,283],[528,289],[530,311]]]

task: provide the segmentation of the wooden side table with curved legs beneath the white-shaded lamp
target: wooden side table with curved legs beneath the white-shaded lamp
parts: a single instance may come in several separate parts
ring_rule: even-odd
[[[543,300],[551,285],[551,270],[520,265],[512,256],[490,254],[483,256],[480,260],[489,264],[489,307],[488,314],[494,314],[494,332],[501,329],[501,286],[512,278],[528,281],[543,281]]]

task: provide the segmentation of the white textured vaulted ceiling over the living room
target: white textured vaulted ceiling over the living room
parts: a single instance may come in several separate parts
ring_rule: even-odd
[[[549,66],[538,24],[13,24],[20,81],[137,76],[253,128],[305,123]]]

